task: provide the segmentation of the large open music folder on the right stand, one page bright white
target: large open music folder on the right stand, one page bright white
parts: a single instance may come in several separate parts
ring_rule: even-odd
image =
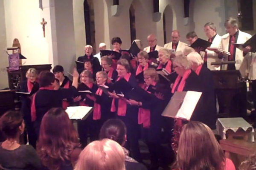
[[[197,91],[175,92],[162,116],[190,120],[201,94]]]

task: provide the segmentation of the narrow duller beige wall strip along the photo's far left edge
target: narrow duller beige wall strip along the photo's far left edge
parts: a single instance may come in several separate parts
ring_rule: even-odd
[[[6,27],[3,1],[0,0],[0,89],[8,87],[8,77],[6,67],[8,66],[8,56],[6,49]]]

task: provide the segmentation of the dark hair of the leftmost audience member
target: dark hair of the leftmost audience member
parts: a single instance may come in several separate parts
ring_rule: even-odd
[[[0,118],[0,129],[7,138],[15,138],[22,124],[23,116],[18,111],[7,111]]]

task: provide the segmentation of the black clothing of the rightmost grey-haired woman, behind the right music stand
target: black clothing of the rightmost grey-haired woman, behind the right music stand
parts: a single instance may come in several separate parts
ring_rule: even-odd
[[[213,75],[212,72],[205,65],[203,65],[198,76],[201,79],[203,86],[203,94],[201,98],[204,103],[204,112],[202,112],[200,116],[198,115],[197,120],[208,125],[211,129],[215,129],[217,111]]]

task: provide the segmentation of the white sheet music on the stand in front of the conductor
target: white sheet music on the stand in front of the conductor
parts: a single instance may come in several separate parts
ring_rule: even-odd
[[[66,112],[70,119],[86,119],[93,111],[93,107],[89,106],[70,106],[67,107]]]

